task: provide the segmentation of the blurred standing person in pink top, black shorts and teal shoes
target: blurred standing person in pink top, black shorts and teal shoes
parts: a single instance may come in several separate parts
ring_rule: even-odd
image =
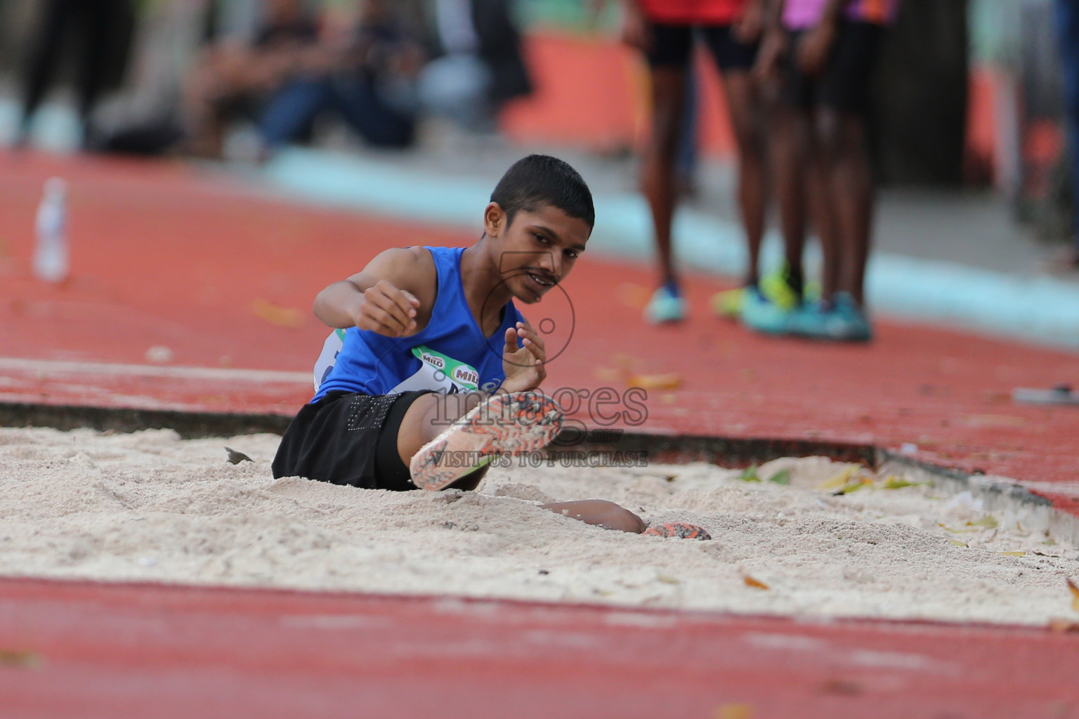
[[[870,81],[898,0],[769,2],[759,71],[782,82],[771,146],[784,245],[790,261],[801,255],[808,209],[824,268],[818,302],[794,309],[747,305],[742,319],[769,334],[869,341],[864,279],[874,182],[865,117]]]

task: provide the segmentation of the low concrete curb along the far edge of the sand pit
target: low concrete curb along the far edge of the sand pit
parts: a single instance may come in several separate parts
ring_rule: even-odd
[[[185,439],[195,439],[256,432],[281,434],[289,421],[290,416],[276,414],[0,402],[0,427],[91,428],[117,432],[174,429]],[[980,501],[984,511],[1000,515],[1008,526],[1017,524],[1024,529],[1047,533],[1054,539],[1079,545],[1079,516],[1054,508],[1051,500],[1034,494],[1015,480],[968,474],[869,444],[627,432],[618,428],[592,429],[586,437],[563,430],[555,443],[559,456],[603,452],[616,458],[636,456],[670,465],[705,461],[724,467],[748,467],[780,457],[809,456],[860,462],[878,472],[894,472],[916,482],[928,482],[952,495],[969,492],[972,500]]]

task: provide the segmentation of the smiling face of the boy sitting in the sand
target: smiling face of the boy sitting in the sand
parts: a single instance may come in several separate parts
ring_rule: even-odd
[[[498,271],[507,289],[533,304],[573,269],[592,229],[552,205],[518,210],[506,225],[506,213],[491,203],[484,216],[488,236],[497,240]]]

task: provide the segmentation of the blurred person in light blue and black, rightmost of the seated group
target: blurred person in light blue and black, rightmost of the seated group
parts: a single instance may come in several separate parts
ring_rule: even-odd
[[[502,106],[532,92],[508,0],[434,0],[441,54],[420,73],[425,112],[493,132]]]

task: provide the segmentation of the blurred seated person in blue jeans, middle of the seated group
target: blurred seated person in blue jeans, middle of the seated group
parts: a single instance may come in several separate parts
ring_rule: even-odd
[[[415,135],[415,78],[426,53],[390,0],[367,0],[355,31],[300,54],[298,69],[265,103],[259,130],[269,150],[336,112],[370,146],[402,148]]]

